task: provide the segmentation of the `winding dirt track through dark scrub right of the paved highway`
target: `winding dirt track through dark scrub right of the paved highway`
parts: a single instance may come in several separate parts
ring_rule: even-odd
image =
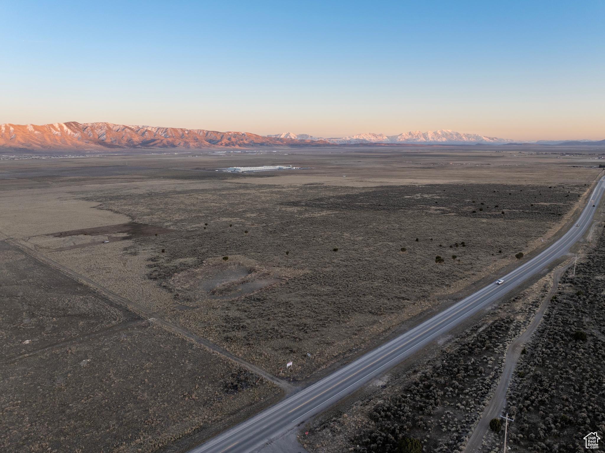
[[[502,415],[502,409],[506,402],[506,391],[508,390],[508,385],[511,382],[512,372],[515,370],[519,356],[523,350],[523,345],[532,336],[538,327],[538,324],[540,324],[540,321],[542,320],[542,317],[546,311],[546,307],[548,307],[549,301],[551,300],[552,296],[554,296],[555,292],[557,292],[561,274],[565,272],[569,266],[572,266],[572,264],[574,264],[573,260],[567,263],[565,266],[555,270],[552,279],[551,291],[542,302],[540,310],[538,310],[534,320],[531,322],[525,332],[512,341],[506,350],[506,363],[504,365],[504,370],[502,370],[502,375],[500,376],[500,382],[498,383],[491,400],[489,400],[488,406],[485,408],[485,411],[483,411],[483,417],[479,421],[479,424],[473,431],[473,435],[471,435],[471,438],[466,444],[465,453],[474,453],[479,451],[479,448],[483,442],[483,437],[485,437],[485,433],[489,429],[489,420],[498,418],[500,415]]]

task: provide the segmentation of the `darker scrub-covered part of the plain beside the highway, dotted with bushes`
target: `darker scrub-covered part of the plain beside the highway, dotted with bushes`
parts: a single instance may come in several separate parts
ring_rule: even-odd
[[[95,200],[137,223],[175,230],[123,247],[163,291],[155,312],[266,370],[294,360],[292,376],[300,379],[515,261],[549,236],[583,192],[256,184]],[[77,262],[81,250],[56,259]],[[101,253],[93,250],[87,259]]]

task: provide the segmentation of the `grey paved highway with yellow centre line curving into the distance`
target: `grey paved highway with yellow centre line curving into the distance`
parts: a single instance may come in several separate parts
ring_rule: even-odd
[[[501,298],[535,273],[540,272],[554,259],[565,255],[569,247],[583,235],[592,221],[596,209],[593,205],[598,205],[604,189],[605,181],[601,180],[589,199],[594,202],[587,203],[577,221],[578,227],[573,226],[540,255],[503,276],[505,282],[502,285],[490,284],[482,288],[436,314],[433,318],[370,351],[330,376],[287,397],[246,422],[240,423],[192,449],[189,453],[246,453],[258,449],[271,438],[306,422],[339,399],[360,388],[374,376],[394,367],[428,342],[433,341],[464,319]]]

